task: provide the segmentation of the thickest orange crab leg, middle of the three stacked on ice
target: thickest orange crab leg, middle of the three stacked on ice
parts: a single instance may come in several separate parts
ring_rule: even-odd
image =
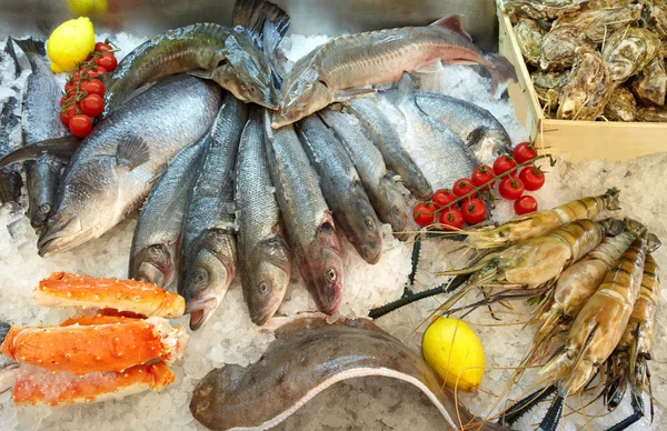
[[[77,318],[59,327],[12,325],[2,353],[18,363],[78,375],[118,371],[182,354],[187,334],[162,318],[137,320],[96,315]]]

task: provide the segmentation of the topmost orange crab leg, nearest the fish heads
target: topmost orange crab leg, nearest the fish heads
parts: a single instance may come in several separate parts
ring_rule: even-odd
[[[155,284],[67,272],[53,272],[40,281],[33,298],[42,307],[113,308],[168,319],[180,318],[186,310],[186,301],[181,295]]]

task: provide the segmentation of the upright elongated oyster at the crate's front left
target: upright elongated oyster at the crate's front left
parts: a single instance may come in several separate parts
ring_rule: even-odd
[[[568,83],[558,99],[559,120],[595,120],[605,109],[613,89],[609,68],[599,52],[579,48]]]

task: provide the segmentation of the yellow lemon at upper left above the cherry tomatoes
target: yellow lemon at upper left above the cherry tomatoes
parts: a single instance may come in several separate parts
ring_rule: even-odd
[[[49,37],[47,54],[56,73],[71,72],[94,49],[92,22],[86,17],[61,23]]]

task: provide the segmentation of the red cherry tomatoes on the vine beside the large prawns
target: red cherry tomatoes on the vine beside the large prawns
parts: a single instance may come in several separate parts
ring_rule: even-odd
[[[412,218],[421,227],[437,222],[444,230],[457,230],[464,223],[480,223],[487,218],[487,208],[477,199],[477,193],[490,193],[497,181],[498,193],[515,202],[517,214],[537,211],[535,198],[524,196],[524,191],[539,190],[545,184],[545,173],[534,164],[537,158],[532,144],[521,142],[514,149],[512,156],[496,159],[492,168],[481,166],[472,171],[471,178],[457,180],[451,189],[437,190],[430,201],[415,207]]]

